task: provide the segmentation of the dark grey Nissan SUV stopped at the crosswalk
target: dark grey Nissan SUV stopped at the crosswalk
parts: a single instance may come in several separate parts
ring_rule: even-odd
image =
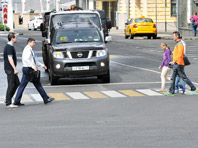
[[[109,52],[97,27],[73,22],[53,28],[51,33],[47,50],[51,85],[63,77],[97,76],[103,83],[110,82]]]

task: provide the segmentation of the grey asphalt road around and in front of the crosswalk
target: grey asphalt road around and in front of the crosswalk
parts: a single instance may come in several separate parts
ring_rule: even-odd
[[[19,57],[27,37],[35,37],[36,53],[41,58],[39,32],[24,32],[15,45]],[[56,100],[49,105],[34,100],[24,107],[8,110],[0,104],[0,147],[2,148],[196,148],[198,138],[197,95],[165,97],[150,95],[160,87],[158,67],[163,51],[160,43],[173,49],[172,40],[126,40],[113,36],[107,44],[111,54],[111,83],[100,84],[96,78],[63,79],[50,86],[42,72],[42,84],[48,94],[63,93],[70,100]],[[0,53],[6,38],[0,36]],[[197,85],[198,51],[196,41],[186,41],[191,66],[189,78]],[[5,95],[6,76],[0,58],[0,96]],[[167,87],[169,84],[167,84]],[[121,94],[121,90],[125,93]],[[142,96],[127,96],[126,90]],[[95,92],[105,98],[75,99],[72,93]],[[111,96],[112,92],[117,96]],[[111,93],[111,95],[109,94]],[[157,92],[156,92],[157,93]],[[29,84],[24,94],[38,94]],[[134,93],[133,93],[134,94]],[[31,95],[30,98],[34,98]],[[73,97],[73,99],[72,99]],[[88,93],[86,97],[91,98]]]

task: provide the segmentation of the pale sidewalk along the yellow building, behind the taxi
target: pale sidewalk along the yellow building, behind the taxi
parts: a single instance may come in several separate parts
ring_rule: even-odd
[[[123,36],[124,37],[124,29],[111,29],[110,35],[116,35],[116,36]],[[164,40],[172,40],[173,35],[172,32],[158,32],[157,39],[164,39]],[[182,39],[184,40],[198,40],[198,36],[182,36]]]

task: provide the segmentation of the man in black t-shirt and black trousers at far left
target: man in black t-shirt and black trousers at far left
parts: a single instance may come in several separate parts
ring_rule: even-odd
[[[20,85],[18,78],[18,71],[16,69],[17,57],[14,44],[17,42],[16,34],[10,32],[8,34],[8,43],[4,48],[4,70],[7,75],[8,88],[6,92],[6,106],[9,108],[18,107],[12,104],[12,97],[14,96],[18,86]]]

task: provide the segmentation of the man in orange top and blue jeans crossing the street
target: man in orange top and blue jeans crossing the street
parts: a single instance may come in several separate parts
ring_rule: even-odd
[[[171,86],[169,88],[169,92],[165,93],[165,96],[173,96],[175,93],[175,79],[178,74],[179,77],[191,88],[191,95],[194,95],[198,89],[192,84],[190,79],[186,76],[184,72],[184,42],[181,41],[181,35],[178,31],[173,32],[173,40],[176,42],[174,52],[173,52],[173,61],[171,65],[173,65],[173,74],[171,78]]]

